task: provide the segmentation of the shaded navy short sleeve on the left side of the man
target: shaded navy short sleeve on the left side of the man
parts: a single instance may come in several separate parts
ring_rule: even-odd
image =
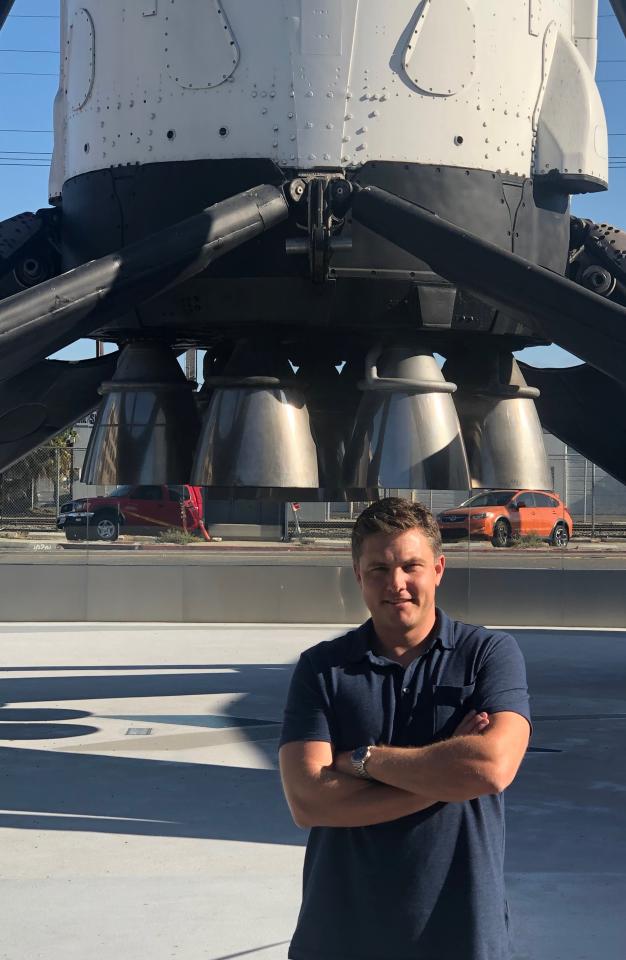
[[[332,741],[329,706],[320,676],[305,652],[289,684],[280,746],[294,740]]]

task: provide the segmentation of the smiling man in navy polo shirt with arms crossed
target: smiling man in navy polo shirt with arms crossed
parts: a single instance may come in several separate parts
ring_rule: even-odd
[[[294,960],[506,960],[502,791],[530,734],[508,634],[435,607],[445,559],[420,504],[358,518],[371,620],[305,651],[280,769],[311,828]]]

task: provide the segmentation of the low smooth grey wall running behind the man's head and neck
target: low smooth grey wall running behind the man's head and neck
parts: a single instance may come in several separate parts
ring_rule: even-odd
[[[620,627],[623,570],[451,568],[439,602],[470,622]],[[0,620],[356,623],[366,616],[348,565],[4,563]]]

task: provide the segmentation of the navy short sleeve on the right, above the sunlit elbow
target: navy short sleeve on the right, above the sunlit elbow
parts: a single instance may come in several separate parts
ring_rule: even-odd
[[[517,641],[508,633],[494,634],[478,669],[473,701],[487,713],[519,713],[531,724],[526,664]]]

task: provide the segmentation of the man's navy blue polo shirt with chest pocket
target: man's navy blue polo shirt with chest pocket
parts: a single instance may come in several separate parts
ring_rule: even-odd
[[[306,650],[282,744],[424,746],[470,709],[530,722],[526,669],[506,633],[437,623],[408,667],[377,656],[371,620]],[[293,960],[508,960],[502,795],[436,803],[370,827],[309,835]]]

